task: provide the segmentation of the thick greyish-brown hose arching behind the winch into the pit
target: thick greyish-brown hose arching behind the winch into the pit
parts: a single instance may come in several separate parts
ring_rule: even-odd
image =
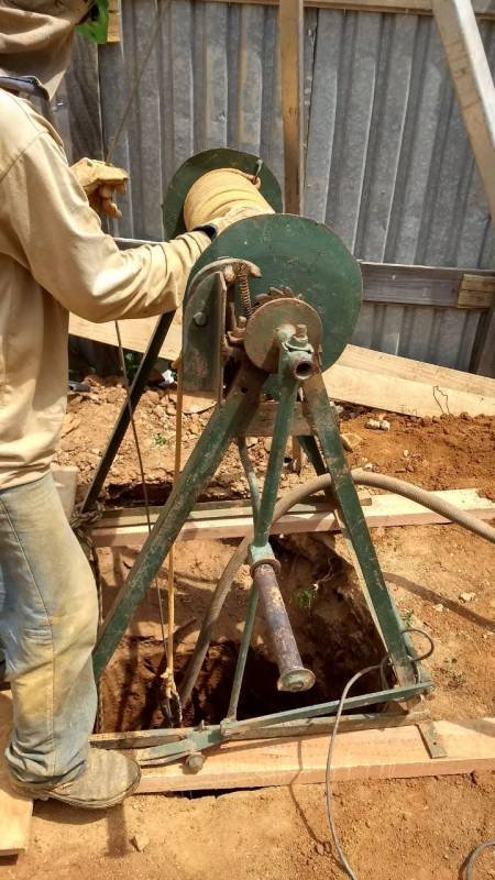
[[[359,486],[373,486],[375,488],[383,488],[388,492],[393,492],[395,495],[403,495],[405,498],[410,498],[410,501],[417,502],[417,504],[420,504],[424,507],[428,507],[430,510],[433,510],[436,514],[439,514],[446,519],[463,526],[463,528],[472,531],[473,535],[477,535],[480,538],[485,538],[487,541],[495,543],[495,529],[492,526],[488,526],[487,522],[477,519],[471,514],[466,514],[464,510],[455,507],[454,504],[451,504],[443,498],[439,498],[437,495],[433,495],[433,493],[428,492],[425,488],[414,486],[411,483],[406,483],[404,480],[397,480],[395,476],[375,474],[372,471],[363,471],[361,469],[351,471],[351,474],[354,483]],[[292,490],[292,492],[288,492],[277,502],[274,510],[273,521],[276,522],[276,520],[288,513],[294,505],[302,502],[308,497],[308,495],[314,495],[316,492],[328,490],[329,486],[331,486],[331,483],[332,481],[330,474],[322,474],[321,476],[315,476],[312,480],[308,480],[300,486],[296,486],[294,490]],[[248,557],[249,547],[252,540],[253,530],[250,529],[249,534],[245,536],[245,538],[243,538],[239,547],[232,553],[216,586],[215,593],[211,596],[208,610],[201,624],[201,629],[199,631],[195,650],[193,651],[193,656],[187,666],[184,684],[180,688],[180,700],[183,705],[185,705],[190,698],[193,689],[196,684],[196,679],[198,678],[199,670],[202,667],[205,657],[210,646],[213,629],[220,616],[223,603],[228,596],[230,586],[235,578],[235,574],[238,573],[238,570],[244,563]]]

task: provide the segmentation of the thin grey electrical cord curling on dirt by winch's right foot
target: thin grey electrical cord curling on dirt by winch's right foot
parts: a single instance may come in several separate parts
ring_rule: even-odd
[[[422,654],[416,654],[410,657],[413,663],[416,666],[420,663],[421,660],[426,660],[427,657],[431,657],[435,651],[435,641],[428,632],[425,632],[424,629],[418,629],[417,627],[408,627],[404,629],[403,632],[417,632],[420,636],[424,636],[429,641],[429,647]],[[340,718],[343,712],[343,707],[345,705],[345,700],[348,697],[349,691],[355,684],[356,681],[362,679],[364,675],[367,675],[370,672],[380,672],[382,685],[386,685],[385,681],[385,667],[389,662],[389,656],[386,653],[383,658],[381,663],[376,663],[372,667],[366,667],[366,669],[362,669],[360,672],[356,672],[352,679],[349,679],[345,688],[342,691],[342,695],[340,697],[339,707],[337,710],[336,715],[336,723],[333,725],[333,729],[330,736],[330,743],[328,748],[328,756],[327,756],[327,768],[324,773],[324,800],[327,805],[327,818],[330,828],[330,833],[332,835],[333,846],[339,855],[340,864],[350,880],[359,880],[358,875],[355,873],[354,869],[349,864],[348,857],[344,853],[342,844],[340,842],[340,837],[336,826],[336,818],[333,815],[333,802],[332,802],[332,783],[331,783],[331,769],[332,769],[332,761],[333,761],[333,751],[336,748],[336,740],[337,740],[337,732],[339,729]],[[490,846],[490,844],[482,845],[482,846]],[[480,849],[480,847],[479,847]],[[476,850],[475,850],[476,853]],[[474,855],[474,854],[473,854]],[[471,861],[471,859],[470,859]],[[471,875],[466,875],[466,880],[470,880]]]

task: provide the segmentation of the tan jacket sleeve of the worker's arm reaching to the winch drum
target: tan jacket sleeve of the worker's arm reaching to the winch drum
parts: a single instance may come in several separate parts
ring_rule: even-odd
[[[210,239],[119,251],[48,133],[38,134],[0,183],[2,241],[66,309],[89,321],[146,318],[176,309]]]

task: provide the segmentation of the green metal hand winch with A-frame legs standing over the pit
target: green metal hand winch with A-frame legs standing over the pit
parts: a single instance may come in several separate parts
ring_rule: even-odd
[[[239,721],[237,708],[256,613],[264,615],[278,666],[278,689],[299,692],[315,683],[296,644],[277,576],[279,563],[270,543],[280,473],[288,438],[296,435],[318,475],[328,474],[326,495],[352,544],[365,597],[384,644],[386,674],[380,692],[348,697],[346,713],[386,705],[388,718],[424,719],[420,695],[432,688],[385,585],[360,498],[339,435],[338,419],[322,372],[351,339],[362,299],[358,263],[327,226],[282,213],[279,186],[255,156],[215,150],[188,160],[168,189],[164,216],[170,235],[185,231],[183,208],[190,187],[212,169],[238,168],[260,182],[261,193],[276,211],[240,220],[220,234],[195,264],[183,308],[183,383],[189,395],[215,398],[216,407],[168,501],[161,509],[129,576],[103,623],[95,651],[97,678],[125,631],[194,505],[217,471],[232,441],[239,447],[251,490],[253,539],[249,550],[252,587],[227,717],[219,725],[161,728],[131,735],[103,735],[99,745],[116,741],[138,749],[142,765],[185,759],[197,772],[204,750],[227,739],[294,735],[331,727],[339,701],[301,706]],[[158,321],[130,392],[134,407],[172,321]],[[331,396],[331,388],[330,388]],[[123,408],[112,439],[91,484],[82,510],[90,510],[129,424]],[[261,491],[249,460],[246,436],[273,437]],[[266,426],[268,425],[268,429]],[[208,617],[208,616],[207,616]],[[204,622],[194,654],[196,669],[211,636]],[[194,667],[194,664],[193,664]],[[189,675],[189,693],[194,684]],[[399,705],[397,705],[399,704]],[[403,704],[403,705],[400,705]],[[348,717],[348,716],[346,716]],[[348,723],[372,726],[376,715],[350,715]],[[432,754],[432,725],[422,729]],[[437,744],[437,754],[438,754]]]

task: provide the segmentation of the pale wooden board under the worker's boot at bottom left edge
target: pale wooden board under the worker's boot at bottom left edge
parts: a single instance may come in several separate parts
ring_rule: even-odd
[[[3,749],[12,725],[12,700],[0,692],[0,858],[28,849],[33,802],[19,798],[9,788]]]

